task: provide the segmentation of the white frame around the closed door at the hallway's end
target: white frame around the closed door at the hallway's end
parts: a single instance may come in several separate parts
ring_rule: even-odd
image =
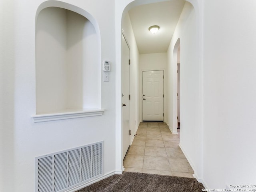
[[[165,85],[165,68],[160,69],[142,69],[140,71],[140,122],[142,122],[142,114],[143,114],[143,98],[142,98],[142,91],[143,91],[143,72],[144,71],[164,71],[164,122],[166,122],[166,85]]]

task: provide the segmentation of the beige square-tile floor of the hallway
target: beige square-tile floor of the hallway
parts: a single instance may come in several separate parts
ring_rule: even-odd
[[[124,158],[124,171],[193,178],[179,142],[179,130],[172,134],[166,123],[141,122]]]

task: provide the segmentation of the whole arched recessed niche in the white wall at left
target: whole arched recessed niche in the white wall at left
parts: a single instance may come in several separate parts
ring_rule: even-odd
[[[102,114],[100,63],[100,37],[87,18],[42,9],[36,20],[36,117]]]

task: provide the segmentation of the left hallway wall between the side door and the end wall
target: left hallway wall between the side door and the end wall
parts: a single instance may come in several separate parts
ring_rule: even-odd
[[[122,30],[124,32],[125,38],[130,46],[130,130],[131,137],[130,142],[134,138],[134,134],[138,129],[140,124],[140,111],[139,111],[139,98],[140,98],[140,86],[139,86],[139,52],[132,30],[132,24],[130,21],[129,14],[123,15],[122,19]]]

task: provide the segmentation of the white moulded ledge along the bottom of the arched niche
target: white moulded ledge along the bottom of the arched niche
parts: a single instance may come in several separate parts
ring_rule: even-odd
[[[82,118],[82,117],[91,117],[91,116],[100,116],[103,115],[103,109],[84,109],[79,111],[69,111],[69,112],[57,112],[51,114],[37,114],[32,116],[34,123],[46,122],[46,121],[55,121],[63,119],[73,119],[73,118]]]

